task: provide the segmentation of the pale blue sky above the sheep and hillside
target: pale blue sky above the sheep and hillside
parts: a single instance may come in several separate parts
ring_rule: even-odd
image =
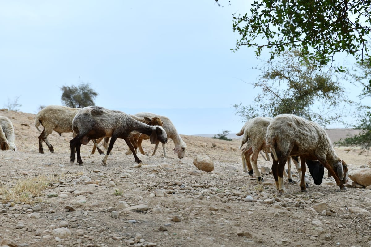
[[[227,3],[227,1],[225,1]],[[253,103],[253,48],[233,53],[232,14],[251,1],[0,1],[0,107],[61,105],[88,82],[96,105],[168,116],[180,134],[238,132],[234,104]]]

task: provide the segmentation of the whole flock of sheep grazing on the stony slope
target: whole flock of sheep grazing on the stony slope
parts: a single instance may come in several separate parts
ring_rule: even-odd
[[[47,139],[53,131],[59,135],[65,132],[73,132],[70,140],[70,162],[75,161],[81,165],[81,144],[86,145],[93,141],[95,149],[104,154],[98,147],[98,143],[104,140],[106,149],[103,165],[107,163],[107,157],[111,152],[116,139],[124,139],[132,152],[135,162],[141,163],[137,157],[137,149],[145,154],[142,149],[142,140],[150,139],[155,144],[152,155],[155,154],[158,144],[162,143],[164,156],[166,157],[165,144],[168,139],[174,141],[174,153],[178,158],[183,158],[187,145],[182,140],[173,123],[166,116],[155,115],[149,112],[141,112],[128,115],[121,111],[112,111],[100,106],[88,106],[85,108],[69,108],[66,106],[50,105],[43,108],[35,116],[35,126],[40,131],[39,152],[43,151],[43,142],[54,152],[53,146]],[[14,128],[12,122],[0,116],[0,146],[1,150],[16,151],[14,144]],[[283,176],[286,175],[285,164],[288,162],[288,180],[292,182],[291,160],[294,162],[298,174],[301,177],[301,191],[306,191],[305,172],[306,165],[315,181],[320,184],[323,178],[324,167],[328,170],[328,176],[333,176],[341,190],[345,190],[348,181],[347,164],[340,159],[332,146],[324,128],[315,122],[308,121],[292,114],[283,114],[275,118],[257,117],[247,121],[241,131],[236,135],[242,137],[240,149],[242,149],[243,171],[249,175],[256,173],[257,181],[263,181],[257,168],[259,152],[263,150],[266,155],[272,153],[272,172],[279,192],[286,194]],[[109,140],[111,138],[111,140]],[[108,144],[109,141],[109,144]],[[246,146],[243,148],[243,145]],[[267,156],[269,159],[269,156]],[[299,158],[300,164],[299,165]],[[252,164],[251,164],[252,163]]]

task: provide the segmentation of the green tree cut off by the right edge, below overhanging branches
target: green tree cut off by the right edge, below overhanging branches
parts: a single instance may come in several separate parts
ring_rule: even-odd
[[[361,73],[361,75],[359,75]],[[363,86],[363,91],[359,95],[360,99],[371,98],[371,65],[369,62],[358,64],[358,69],[351,72],[352,78]],[[368,101],[370,102],[370,101]],[[371,105],[358,105],[358,112],[360,112],[359,121],[353,124],[354,129],[359,129],[361,132],[354,136],[342,138],[335,142],[339,146],[362,146],[362,154],[365,150],[370,151],[371,148]]]

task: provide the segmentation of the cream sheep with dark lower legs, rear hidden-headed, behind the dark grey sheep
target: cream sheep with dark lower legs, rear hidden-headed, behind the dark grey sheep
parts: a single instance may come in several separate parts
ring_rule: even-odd
[[[35,127],[40,132],[40,124],[44,127],[39,135],[39,153],[43,154],[43,141],[49,148],[51,153],[54,153],[52,144],[47,139],[47,136],[52,134],[53,131],[59,135],[62,133],[69,133],[72,131],[72,119],[81,108],[70,108],[67,106],[49,105],[40,110],[35,116]],[[93,141],[94,142],[94,141]],[[103,153],[98,148],[99,153]]]

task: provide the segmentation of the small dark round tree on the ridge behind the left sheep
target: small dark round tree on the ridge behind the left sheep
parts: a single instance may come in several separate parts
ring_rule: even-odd
[[[94,99],[98,96],[98,93],[90,88],[89,83],[81,83],[78,87],[63,86],[60,90],[63,92],[60,98],[63,105],[71,108],[95,105]]]

